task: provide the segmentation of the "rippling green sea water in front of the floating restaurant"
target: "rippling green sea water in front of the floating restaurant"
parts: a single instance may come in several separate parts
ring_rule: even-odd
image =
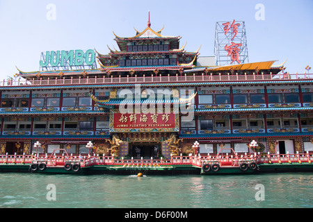
[[[0,173],[0,207],[313,207],[313,173],[121,176]]]

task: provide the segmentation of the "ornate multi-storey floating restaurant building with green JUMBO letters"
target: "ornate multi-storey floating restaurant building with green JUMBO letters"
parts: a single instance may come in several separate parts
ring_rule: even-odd
[[[260,153],[313,151],[310,74],[284,73],[275,60],[236,62],[236,51],[216,66],[150,26],[114,34],[119,49],[108,54],[42,53],[40,71],[3,80],[0,154],[167,159],[249,153],[252,140]]]

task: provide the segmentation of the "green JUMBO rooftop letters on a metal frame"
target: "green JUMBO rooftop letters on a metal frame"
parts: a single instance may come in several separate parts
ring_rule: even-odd
[[[42,58],[39,62],[40,67],[47,67],[49,64],[52,67],[65,67],[68,65],[93,65],[94,63],[95,51],[93,51],[93,49],[88,49],[86,52],[81,49],[77,49],[75,51],[46,51],[45,58]]]

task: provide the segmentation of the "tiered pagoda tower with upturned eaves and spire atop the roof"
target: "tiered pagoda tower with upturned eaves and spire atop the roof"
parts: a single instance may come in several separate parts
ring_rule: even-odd
[[[163,27],[164,28],[164,27]],[[97,59],[102,71],[118,72],[121,76],[128,74],[177,74],[177,71],[192,69],[198,58],[198,51],[186,52],[186,44],[179,47],[180,36],[162,35],[162,30],[151,28],[150,12],[147,28],[136,31],[134,37],[119,37],[115,41],[120,51],[110,49],[109,54],[97,52]]]

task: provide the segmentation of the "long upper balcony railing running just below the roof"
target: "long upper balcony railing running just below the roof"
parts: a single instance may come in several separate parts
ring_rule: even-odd
[[[98,72],[97,74],[102,74]],[[227,75],[213,75],[213,74],[201,74],[196,76],[181,76],[176,74],[176,76],[111,76],[111,77],[97,77],[89,78],[48,78],[48,79],[35,79],[33,80],[2,80],[0,81],[1,87],[11,87],[11,86],[35,86],[35,85],[93,85],[93,84],[127,84],[127,83],[198,83],[198,82],[219,82],[219,81],[263,81],[263,80],[312,80],[313,74],[252,74],[252,75],[238,75],[238,74],[227,74]]]

